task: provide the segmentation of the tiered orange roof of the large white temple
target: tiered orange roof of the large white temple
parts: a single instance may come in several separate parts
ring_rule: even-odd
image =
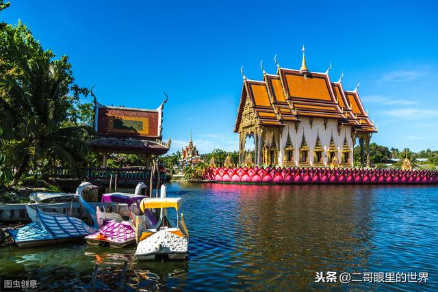
[[[284,121],[309,116],[335,118],[358,131],[376,131],[357,92],[344,91],[342,83],[332,83],[326,73],[309,72],[305,77],[299,70],[278,68],[276,75],[263,74],[263,81],[244,79],[235,132],[247,96],[259,124],[284,126]]]

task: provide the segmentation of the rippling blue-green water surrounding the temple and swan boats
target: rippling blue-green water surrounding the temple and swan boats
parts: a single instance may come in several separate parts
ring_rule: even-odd
[[[188,261],[136,263],[122,250],[66,243],[0,249],[0,275],[43,291],[437,291],[438,187],[170,184],[190,232]],[[315,283],[316,271],[428,272],[427,284]]]

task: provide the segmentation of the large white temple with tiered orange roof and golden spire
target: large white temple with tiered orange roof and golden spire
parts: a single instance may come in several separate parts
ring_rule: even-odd
[[[243,85],[234,132],[240,138],[240,163],[245,161],[245,142],[255,142],[256,165],[353,166],[353,147],[358,138],[362,165],[370,166],[370,139],[377,132],[355,90],[344,90],[342,76],[333,82],[326,72],[307,68],[302,47],[300,70],[281,68],[263,80],[249,80],[242,70]],[[330,66],[331,67],[331,66]]]

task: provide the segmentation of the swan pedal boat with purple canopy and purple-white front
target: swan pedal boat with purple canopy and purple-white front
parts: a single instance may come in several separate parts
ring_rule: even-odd
[[[96,207],[99,230],[85,237],[89,245],[104,245],[108,243],[112,248],[124,248],[136,242],[135,217],[142,215],[139,204],[146,198],[146,196],[141,195],[143,188],[146,188],[146,185],[139,183],[135,194],[113,192],[102,195],[103,211],[101,211],[99,206]],[[120,203],[123,206],[120,206]],[[105,209],[105,204],[109,205],[107,206],[108,211]],[[115,212],[109,211],[111,204],[115,204],[112,207],[112,209],[116,209]],[[146,213],[148,213],[146,218],[151,217],[155,220],[149,210],[146,210]]]

